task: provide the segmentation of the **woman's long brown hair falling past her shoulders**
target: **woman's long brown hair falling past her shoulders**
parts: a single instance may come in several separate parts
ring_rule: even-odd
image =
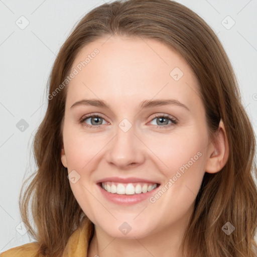
[[[111,35],[155,39],[175,49],[198,79],[210,136],[217,131],[221,118],[224,122],[230,151],[228,161],[220,172],[204,175],[183,240],[188,245],[188,256],[255,256],[255,137],[240,100],[235,74],[211,28],[193,11],[169,0],[101,5],[79,21],[61,47],[48,83],[47,111],[34,139],[38,169],[20,195],[23,221],[41,252],[61,256],[83,215],[60,158],[68,85],[55,90],[69,75],[75,57],[85,45]],[[37,231],[30,222],[30,203]],[[226,222],[235,227],[230,235],[222,231]]]

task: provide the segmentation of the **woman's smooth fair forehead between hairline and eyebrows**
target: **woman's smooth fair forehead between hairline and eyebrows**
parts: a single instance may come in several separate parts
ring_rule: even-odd
[[[198,82],[186,60],[165,44],[138,37],[104,37],[84,46],[75,58],[67,102],[100,98],[129,104],[176,98],[199,103]]]

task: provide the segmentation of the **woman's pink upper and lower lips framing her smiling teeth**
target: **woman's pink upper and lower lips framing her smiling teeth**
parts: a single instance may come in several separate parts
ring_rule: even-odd
[[[145,182],[145,183],[156,183],[157,187],[150,192],[147,193],[140,193],[140,194],[135,194],[135,195],[120,195],[120,194],[112,194],[107,191],[105,191],[102,186],[101,182],[117,182],[117,183],[137,183],[137,182]],[[157,183],[155,181],[150,181],[146,179],[140,179],[140,178],[118,178],[118,177],[109,177],[109,178],[104,178],[99,181],[97,181],[97,187],[100,190],[100,193],[103,195],[105,199],[108,201],[118,204],[118,205],[133,205],[140,203],[144,200],[147,200],[151,197],[151,195],[156,193],[156,190],[159,188],[160,183]]]

